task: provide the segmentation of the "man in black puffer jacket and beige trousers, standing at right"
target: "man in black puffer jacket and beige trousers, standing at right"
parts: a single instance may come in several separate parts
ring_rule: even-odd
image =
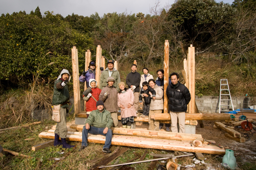
[[[170,119],[172,120],[172,132],[177,133],[177,117],[179,118],[179,133],[185,133],[185,112],[191,96],[189,90],[179,82],[177,72],[170,74],[172,83],[166,89]]]

